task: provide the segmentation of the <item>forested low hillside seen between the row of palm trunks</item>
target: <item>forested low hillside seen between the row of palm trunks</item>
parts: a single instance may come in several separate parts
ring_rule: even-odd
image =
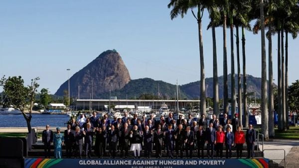
[[[235,76],[236,89],[238,76]],[[213,97],[213,78],[206,78],[206,94],[208,97]],[[218,77],[219,84],[219,98],[223,97],[223,76]],[[241,87],[243,87],[243,76],[241,76]],[[200,81],[196,81],[189,84],[181,85],[181,89],[185,92],[189,98],[196,98],[200,96]],[[256,96],[261,96],[261,78],[256,78],[251,75],[247,75],[247,92],[256,92]],[[231,75],[228,75],[228,96],[231,97]]]

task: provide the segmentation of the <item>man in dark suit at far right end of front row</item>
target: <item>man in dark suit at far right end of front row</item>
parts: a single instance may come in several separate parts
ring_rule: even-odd
[[[253,126],[249,124],[249,129],[246,131],[246,144],[247,144],[247,159],[254,157],[254,144],[256,140],[256,131]]]

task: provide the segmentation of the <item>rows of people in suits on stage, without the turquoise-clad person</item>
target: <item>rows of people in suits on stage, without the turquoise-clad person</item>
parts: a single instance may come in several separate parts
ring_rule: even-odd
[[[47,125],[48,126],[48,125]],[[50,144],[53,138],[48,129],[44,130],[42,139],[45,148],[45,157],[49,157]],[[223,147],[226,149],[226,158],[231,158],[232,147],[236,146],[237,158],[242,157],[243,144],[247,143],[248,156],[254,157],[255,130],[249,125],[246,134],[241,131],[238,114],[234,119],[227,118],[227,114],[219,121],[216,115],[211,120],[207,120],[202,115],[198,121],[193,120],[191,114],[187,119],[181,116],[177,120],[173,114],[168,117],[160,117],[155,120],[151,115],[149,119],[143,117],[128,117],[124,113],[122,118],[110,120],[105,114],[102,118],[93,112],[93,116],[85,118],[81,115],[79,119],[72,120],[64,131],[64,144],[66,157],[82,158],[83,148],[86,158],[91,158],[92,147],[94,153],[99,158],[108,156],[115,158],[117,151],[121,158],[127,158],[128,151],[133,151],[134,158],[140,158],[141,151],[144,149],[144,157],[150,158],[153,149],[155,158],[162,157],[162,151],[166,149],[168,158],[193,157],[193,151],[197,150],[197,158],[204,158],[204,146],[207,146],[208,158],[222,158]],[[108,148],[107,148],[108,147]],[[109,149],[108,155],[106,148]],[[216,151],[216,156],[214,155]]]

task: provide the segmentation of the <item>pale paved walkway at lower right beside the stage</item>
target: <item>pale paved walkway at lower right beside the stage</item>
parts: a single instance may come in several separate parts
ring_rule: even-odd
[[[262,150],[262,146],[260,146]],[[286,168],[297,168],[299,165],[299,140],[274,139],[264,142],[264,157],[285,166],[284,150],[286,151]]]

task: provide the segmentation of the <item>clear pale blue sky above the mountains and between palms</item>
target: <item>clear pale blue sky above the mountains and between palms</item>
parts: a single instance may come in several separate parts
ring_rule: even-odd
[[[178,84],[198,81],[197,22],[191,11],[184,18],[171,20],[168,2],[1,0],[0,76],[22,76],[26,84],[34,77],[40,77],[40,89],[49,88],[50,93],[54,94],[68,79],[66,69],[70,69],[71,76],[102,52],[116,49],[132,79],[148,77],[171,84],[175,84],[176,80]],[[212,32],[206,30],[208,22],[205,12],[202,25],[206,78],[213,75]],[[229,37],[230,31],[227,30],[230,73]],[[216,38],[218,76],[221,76],[222,28],[216,29]],[[260,34],[253,35],[246,31],[247,73],[255,77],[261,77],[260,38]],[[298,42],[298,39],[289,37],[289,84],[299,79]],[[273,52],[274,79],[277,83],[276,36],[273,38]]]

